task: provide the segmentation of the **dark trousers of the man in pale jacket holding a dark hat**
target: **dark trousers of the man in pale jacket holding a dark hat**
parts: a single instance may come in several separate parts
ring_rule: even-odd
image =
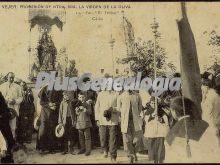
[[[100,125],[100,142],[104,151],[110,152],[111,158],[117,157],[117,125],[104,126]]]

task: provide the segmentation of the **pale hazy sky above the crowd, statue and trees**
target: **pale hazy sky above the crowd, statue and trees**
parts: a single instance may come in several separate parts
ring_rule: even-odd
[[[53,4],[22,2],[7,3],[16,4],[16,9],[3,9],[2,5],[5,4],[0,3],[0,73],[2,74],[13,71],[16,77],[24,80],[28,77],[29,63],[33,59],[33,54],[29,55],[27,50],[30,46],[34,50],[39,39],[37,26],[30,32],[29,9],[19,8],[19,5],[28,4],[77,7],[66,8],[63,31],[53,26],[51,34],[58,51],[66,47],[69,59],[76,60],[79,73],[91,72],[98,75],[101,68],[106,72],[112,71],[112,50],[109,44],[111,35],[115,39],[114,59],[126,56],[122,10],[133,26],[136,39],[138,37],[143,40],[153,39],[150,25],[154,16],[156,17],[160,25],[158,30],[162,34],[160,44],[166,49],[167,61],[173,62],[179,70],[179,33],[176,24],[176,20],[180,18],[178,2],[60,2]],[[87,9],[87,5],[100,5],[102,8]],[[106,5],[116,6],[116,8],[103,9]],[[121,6],[130,6],[130,8],[122,9]],[[203,32],[213,29],[218,32],[219,8],[218,2],[187,2],[187,15],[195,37],[201,71],[204,70],[204,65],[211,64],[212,55],[212,49],[207,45],[208,36]],[[117,64],[115,66],[122,67]]]

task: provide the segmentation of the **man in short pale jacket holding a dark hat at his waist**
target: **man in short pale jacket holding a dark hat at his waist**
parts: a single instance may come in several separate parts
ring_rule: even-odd
[[[117,105],[117,93],[114,91],[101,91],[95,104],[95,120],[99,125],[101,147],[104,157],[111,154],[111,161],[117,158],[117,125],[119,113],[114,110]]]

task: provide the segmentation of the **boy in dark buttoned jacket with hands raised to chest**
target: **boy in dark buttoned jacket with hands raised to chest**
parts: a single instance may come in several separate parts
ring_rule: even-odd
[[[78,154],[85,153],[86,156],[91,153],[91,106],[86,102],[86,93],[78,94],[78,105],[76,106],[77,123],[76,128],[79,131],[80,151]]]

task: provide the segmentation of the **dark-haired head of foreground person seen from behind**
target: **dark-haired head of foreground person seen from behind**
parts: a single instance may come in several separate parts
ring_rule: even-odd
[[[199,113],[195,104],[188,98],[184,98],[185,105],[185,115],[189,115],[190,118],[196,119]],[[178,120],[180,117],[184,116],[183,100],[182,97],[175,97],[171,100],[170,103],[171,114],[175,120]]]

